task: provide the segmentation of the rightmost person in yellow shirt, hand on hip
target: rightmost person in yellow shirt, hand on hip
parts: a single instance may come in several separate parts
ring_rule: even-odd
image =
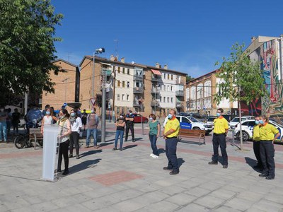
[[[268,117],[260,117],[260,158],[263,171],[259,175],[265,179],[275,179],[274,141],[280,136],[279,130],[268,123]]]

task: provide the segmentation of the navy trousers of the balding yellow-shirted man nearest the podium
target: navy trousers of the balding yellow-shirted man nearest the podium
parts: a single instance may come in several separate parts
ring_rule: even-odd
[[[177,143],[178,138],[168,138],[165,143],[165,152],[168,159],[168,168],[172,168],[173,171],[179,171],[177,160]]]

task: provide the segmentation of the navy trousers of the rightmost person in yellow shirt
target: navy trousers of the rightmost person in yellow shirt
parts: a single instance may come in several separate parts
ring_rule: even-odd
[[[272,141],[260,141],[260,158],[263,165],[263,173],[275,177],[275,148]]]

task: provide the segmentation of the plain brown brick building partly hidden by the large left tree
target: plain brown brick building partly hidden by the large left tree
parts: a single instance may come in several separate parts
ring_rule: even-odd
[[[55,83],[54,93],[42,92],[42,110],[45,105],[50,105],[58,110],[65,102],[79,102],[79,66],[64,59],[57,59],[53,63],[65,72],[55,75],[53,71],[50,71],[51,81]]]

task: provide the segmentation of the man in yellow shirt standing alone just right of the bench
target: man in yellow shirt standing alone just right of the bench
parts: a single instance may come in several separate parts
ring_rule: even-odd
[[[229,126],[227,120],[222,116],[223,109],[217,109],[216,116],[214,119],[214,131],[212,137],[213,144],[213,155],[212,161],[209,162],[209,165],[217,165],[218,164],[218,156],[219,151],[218,147],[220,146],[221,155],[223,158],[223,168],[226,169],[228,167],[228,156],[226,152],[226,134],[228,132]]]

